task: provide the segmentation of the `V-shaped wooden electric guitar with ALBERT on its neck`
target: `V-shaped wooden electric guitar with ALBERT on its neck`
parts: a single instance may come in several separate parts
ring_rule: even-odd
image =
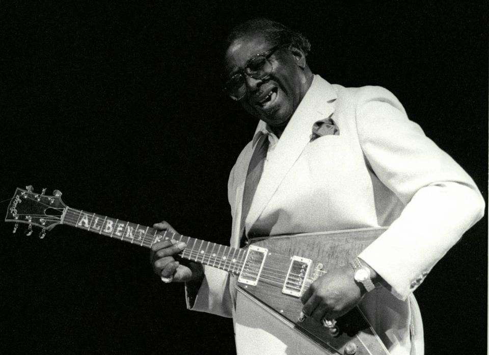
[[[319,323],[301,317],[301,295],[328,269],[345,266],[385,228],[254,238],[243,248],[233,248],[186,237],[116,218],[76,210],[64,204],[61,192],[34,193],[32,186],[17,188],[6,222],[41,227],[39,237],[57,224],[66,224],[131,244],[151,247],[163,240],[186,243],[180,257],[227,271],[237,278],[238,292],[252,298],[298,334],[321,346],[327,354],[388,355],[381,339],[358,308],[334,321]]]

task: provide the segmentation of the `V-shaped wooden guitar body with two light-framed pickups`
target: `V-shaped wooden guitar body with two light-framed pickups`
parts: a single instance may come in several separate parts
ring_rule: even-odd
[[[314,342],[327,354],[389,354],[358,308],[330,327],[312,318],[299,319],[300,295],[317,277],[355,259],[385,228],[347,230],[252,239],[238,293],[260,309]],[[289,257],[284,257],[289,256]],[[248,270],[246,269],[248,267]],[[288,270],[281,272],[280,270]],[[255,275],[255,277],[253,277]],[[258,277],[256,277],[258,275]],[[239,297],[240,295],[238,295]],[[250,307],[250,306],[249,306]],[[293,332],[290,335],[294,337]]]

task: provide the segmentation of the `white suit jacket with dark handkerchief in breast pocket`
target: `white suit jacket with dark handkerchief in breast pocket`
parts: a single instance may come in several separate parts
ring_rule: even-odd
[[[314,123],[328,117],[339,135],[311,141]],[[256,133],[265,131],[260,121]],[[229,177],[234,247],[244,227],[242,194],[253,149],[253,141],[244,147]],[[412,292],[483,210],[471,177],[408,119],[391,92],[331,85],[315,75],[266,162],[245,224],[262,235],[390,226],[359,257],[391,288],[368,293],[360,308],[392,354],[422,354]],[[236,296],[233,283],[205,267],[188,308],[233,316],[238,354],[321,353]]]

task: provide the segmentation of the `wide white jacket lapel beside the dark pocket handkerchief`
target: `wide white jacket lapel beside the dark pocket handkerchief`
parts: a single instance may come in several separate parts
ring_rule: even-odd
[[[315,75],[311,87],[280,137],[273,156],[266,162],[245,221],[247,231],[256,222],[287,172],[310,142],[314,122],[329,117],[334,112],[335,99],[336,92],[331,84]]]

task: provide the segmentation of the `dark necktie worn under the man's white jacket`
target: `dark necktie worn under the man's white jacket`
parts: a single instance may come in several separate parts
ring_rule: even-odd
[[[241,209],[241,225],[244,225],[244,220],[250,211],[251,202],[255,195],[256,187],[260,181],[261,173],[263,172],[263,164],[265,163],[266,152],[268,151],[268,135],[262,134],[258,138],[255,151],[248,165],[246,181],[244,182],[243,205]],[[244,236],[243,232],[243,236]]]

